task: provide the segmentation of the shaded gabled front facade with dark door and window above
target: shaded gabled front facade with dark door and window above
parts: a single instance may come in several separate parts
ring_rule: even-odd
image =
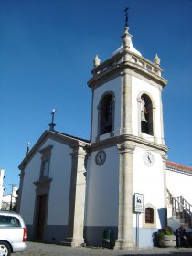
[[[23,171],[19,211],[27,223],[29,239],[38,234],[38,239],[45,236],[46,240],[57,242],[59,237],[67,235],[73,168],[71,155],[75,142],[74,139],[58,133],[45,132],[42,137],[42,141],[40,138],[35,145],[35,154],[29,154],[27,162],[24,162],[25,169],[22,169],[21,165]],[[42,176],[44,163],[47,161],[48,175]],[[46,199],[43,199],[45,195]],[[43,208],[42,204],[45,204]],[[42,217],[39,217],[41,214]],[[40,231],[37,226],[41,218],[46,219],[51,233],[48,229],[38,233]]]

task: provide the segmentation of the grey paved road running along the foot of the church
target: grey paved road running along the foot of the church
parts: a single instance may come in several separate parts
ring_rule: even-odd
[[[13,256],[127,256],[127,255],[164,255],[192,256],[192,248],[154,248],[138,250],[109,250],[102,248],[70,248],[61,245],[27,242],[27,250]]]

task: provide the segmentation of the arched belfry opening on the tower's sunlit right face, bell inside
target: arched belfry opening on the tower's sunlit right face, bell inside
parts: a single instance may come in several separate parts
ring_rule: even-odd
[[[141,103],[141,130],[142,133],[154,135],[153,128],[153,105],[148,95],[143,94]]]

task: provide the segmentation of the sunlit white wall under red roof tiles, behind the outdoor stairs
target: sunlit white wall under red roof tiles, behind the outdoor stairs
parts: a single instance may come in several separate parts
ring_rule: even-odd
[[[181,174],[166,170],[166,185],[174,197],[183,196],[192,205],[192,174]]]

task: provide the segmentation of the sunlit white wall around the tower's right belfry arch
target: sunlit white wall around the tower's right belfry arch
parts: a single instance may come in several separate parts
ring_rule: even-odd
[[[161,144],[162,141],[162,137],[163,137],[163,133],[161,131],[161,99],[160,99],[160,93],[159,93],[159,89],[149,83],[147,83],[144,80],[140,80],[136,77],[132,77],[132,93],[133,93],[133,97],[132,97],[132,117],[133,117],[133,135],[138,136],[138,127],[140,125],[140,123],[138,123],[138,104],[137,104],[137,98],[139,96],[139,94],[142,92],[146,93],[151,100],[155,103],[154,107],[154,112],[155,112],[155,133],[156,133],[156,137],[157,137],[157,143]],[[151,140],[151,136],[147,136],[146,134],[144,134],[144,138],[148,139],[149,141]]]

